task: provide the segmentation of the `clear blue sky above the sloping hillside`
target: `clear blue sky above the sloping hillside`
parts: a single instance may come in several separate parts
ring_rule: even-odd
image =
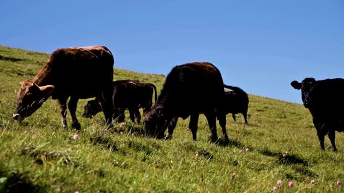
[[[168,74],[208,61],[225,84],[301,102],[293,80],[344,78],[343,1],[0,0],[0,44],[106,45],[115,67]]]

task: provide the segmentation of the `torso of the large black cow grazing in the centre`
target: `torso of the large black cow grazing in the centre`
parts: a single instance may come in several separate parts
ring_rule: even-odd
[[[167,75],[157,103],[171,113],[187,117],[221,108],[224,97],[220,71],[211,63],[195,62],[176,66]]]

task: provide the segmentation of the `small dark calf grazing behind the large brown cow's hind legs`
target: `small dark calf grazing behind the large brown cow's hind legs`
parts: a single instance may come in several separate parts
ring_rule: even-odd
[[[136,119],[136,122],[140,124],[141,114],[139,109],[142,108],[144,113],[150,109],[153,92],[155,92],[154,99],[156,102],[156,87],[150,83],[140,83],[138,80],[121,80],[114,81],[113,88],[113,118],[118,122],[124,121],[124,110],[128,109],[131,121],[134,123],[134,119]],[[82,116],[92,118],[101,109],[96,98],[93,101],[88,101]]]

